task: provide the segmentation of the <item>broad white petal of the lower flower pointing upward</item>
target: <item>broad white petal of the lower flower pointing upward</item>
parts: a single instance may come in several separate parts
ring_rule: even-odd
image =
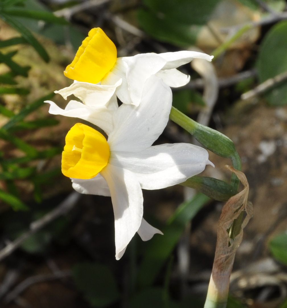
[[[122,104],[114,113],[114,129],[108,137],[111,151],[141,151],[153,144],[167,125],[171,89],[155,76],[144,87],[139,107]]]

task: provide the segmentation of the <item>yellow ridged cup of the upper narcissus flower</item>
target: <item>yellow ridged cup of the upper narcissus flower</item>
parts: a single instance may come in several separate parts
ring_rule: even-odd
[[[115,44],[101,28],[93,28],[64,75],[77,81],[99,83],[115,65],[116,56]]]

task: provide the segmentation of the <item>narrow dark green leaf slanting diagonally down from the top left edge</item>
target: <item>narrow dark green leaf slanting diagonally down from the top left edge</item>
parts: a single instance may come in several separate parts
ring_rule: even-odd
[[[47,51],[45,51],[44,47],[38,42],[38,40],[33,36],[30,30],[28,30],[21,22],[17,21],[14,18],[10,18],[9,15],[0,12],[0,17],[7,22],[11,27],[17,30],[19,33],[22,34],[22,37],[29,43],[33,48],[37,51],[37,53],[41,56],[41,58],[45,62],[49,62],[49,55]]]

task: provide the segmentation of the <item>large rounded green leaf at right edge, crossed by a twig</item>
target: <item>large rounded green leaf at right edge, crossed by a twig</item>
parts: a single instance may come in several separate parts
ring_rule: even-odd
[[[273,26],[263,39],[258,54],[259,82],[287,71],[287,22]],[[277,84],[264,95],[270,105],[287,103],[287,82]]]

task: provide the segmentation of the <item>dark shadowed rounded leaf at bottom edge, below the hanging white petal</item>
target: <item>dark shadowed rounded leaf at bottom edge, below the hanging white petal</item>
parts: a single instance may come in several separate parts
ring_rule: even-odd
[[[92,307],[106,307],[120,298],[110,268],[97,263],[80,263],[73,268],[77,289]]]

